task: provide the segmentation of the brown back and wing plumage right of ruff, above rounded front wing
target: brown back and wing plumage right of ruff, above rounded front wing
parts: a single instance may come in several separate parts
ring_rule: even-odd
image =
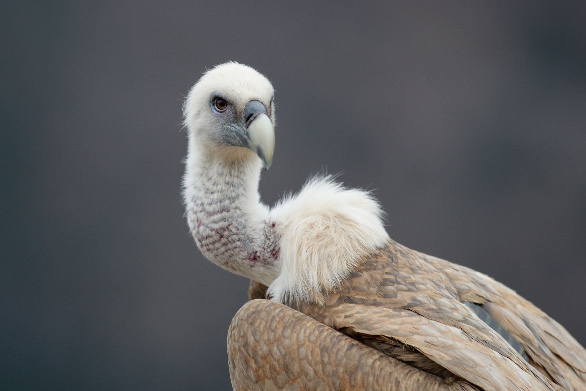
[[[266,286],[252,281],[251,298]],[[586,351],[515,291],[472,269],[391,241],[364,259],[325,305],[291,304],[325,325],[411,366],[484,389],[586,389]],[[519,341],[527,363],[463,305],[485,305]]]

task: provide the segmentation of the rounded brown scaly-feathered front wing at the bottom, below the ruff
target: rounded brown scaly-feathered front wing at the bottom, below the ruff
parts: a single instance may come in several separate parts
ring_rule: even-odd
[[[416,369],[288,306],[247,302],[228,332],[234,390],[479,390]]]

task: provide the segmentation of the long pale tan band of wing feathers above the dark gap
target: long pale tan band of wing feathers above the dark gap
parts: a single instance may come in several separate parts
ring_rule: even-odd
[[[342,304],[326,312],[326,318],[322,317],[325,312],[308,315],[320,316],[319,321],[335,329],[352,329],[353,335],[384,336],[406,343],[483,389],[554,389],[523,365],[522,359],[504,356],[459,328],[415,312],[355,304]]]

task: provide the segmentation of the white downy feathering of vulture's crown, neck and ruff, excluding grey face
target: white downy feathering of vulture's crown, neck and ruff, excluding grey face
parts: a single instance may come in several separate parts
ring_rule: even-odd
[[[215,264],[269,286],[275,301],[321,301],[389,239],[379,203],[367,191],[314,177],[269,209],[258,195],[260,159],[219,139],[222,126],[209,106],[215,93],[235,110],[260,100],[275,122],[272,86],[247,66],[220,65],[190,91],[183,197],[197,247]]]

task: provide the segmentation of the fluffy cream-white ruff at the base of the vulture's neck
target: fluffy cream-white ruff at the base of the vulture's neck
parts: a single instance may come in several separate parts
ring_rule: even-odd
[[[383,210],[368,191],[345,188],[332,176],[313,177],[270,212],[281,235],[280,272],[268,294],[279,302],[321,302],[389,235]]]

